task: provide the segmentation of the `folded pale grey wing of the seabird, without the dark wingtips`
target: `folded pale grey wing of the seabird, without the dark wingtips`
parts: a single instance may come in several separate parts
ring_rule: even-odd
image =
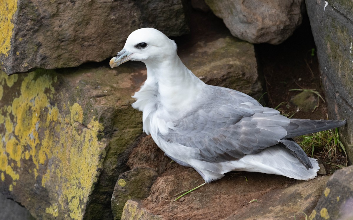
[[[208,162],[235,160],[279,143],[290,120],[273,108],[241,103],[201,108],[175,121],[164,140],[197,148]]]

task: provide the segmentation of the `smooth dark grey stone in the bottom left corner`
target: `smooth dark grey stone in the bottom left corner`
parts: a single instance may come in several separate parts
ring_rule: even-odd
[[[27,209],[0,193],[0,220],[35,220]]]

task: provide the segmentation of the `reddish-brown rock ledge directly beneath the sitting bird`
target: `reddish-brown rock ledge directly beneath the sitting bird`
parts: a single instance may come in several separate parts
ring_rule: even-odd
[[[195,170],[170,165],[157,178],[150,196],[140,205],[126,203],[133,212],[122,219],[133,219],[135,213],[158,219],[304,219],[315,208],[329,176],[310,181],[251,172],[228,173],[225,177],[174,202],[173,196],[203,182]],[[146,214],[148,212],[148,214]],[[142,218],[143,219],[143,218]]]

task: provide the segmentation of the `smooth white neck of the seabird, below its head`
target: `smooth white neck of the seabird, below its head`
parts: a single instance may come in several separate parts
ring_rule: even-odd
[[[156,63],[146,63],[146,82],[155,83],[160,105],[170,112],[187,111],[206,84],[185,67],[178,55]]]

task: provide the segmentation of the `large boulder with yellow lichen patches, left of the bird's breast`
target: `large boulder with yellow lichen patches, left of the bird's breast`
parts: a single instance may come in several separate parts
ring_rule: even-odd
[[[116,179],[142,133],[130,106],[139,68],[1,72],[1,192],[37,219],[112,219]]]

